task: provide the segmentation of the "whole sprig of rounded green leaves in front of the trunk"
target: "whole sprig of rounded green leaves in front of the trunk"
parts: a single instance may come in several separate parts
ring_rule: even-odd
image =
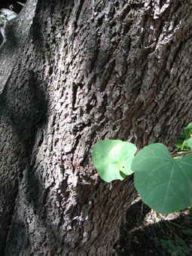
[[[161,143],[148,145],[136,154],[136,146],[130,142],[103,140],[93,148],[93,164],[108,182],[122,181],[134,172],[136,190],[157,212],[185,209],[192,206],[192,154],[188,154],[192,153],[191,124],[182,136],[171,155]]]

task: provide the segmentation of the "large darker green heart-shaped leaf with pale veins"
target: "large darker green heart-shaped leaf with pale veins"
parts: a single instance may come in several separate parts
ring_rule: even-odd
[[[160,143],[133,159],[134,182],[144,203],[168,214],[192,206],[192,154],[174,160]]]

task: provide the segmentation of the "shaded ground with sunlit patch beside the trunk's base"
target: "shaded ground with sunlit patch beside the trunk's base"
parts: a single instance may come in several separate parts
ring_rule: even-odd
[[[114,249],[118,256],[192,255],[191,210],[160,215],[138,197],[126,213]]]

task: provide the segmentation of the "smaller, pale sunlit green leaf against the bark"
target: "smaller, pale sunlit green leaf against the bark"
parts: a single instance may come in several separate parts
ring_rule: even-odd
[[[92,153],[93,165],[104,181],[122,181],[126,175],[133,173],[130,166],[136,149],[132,143],[120,140],[106,139],[97,142]]]

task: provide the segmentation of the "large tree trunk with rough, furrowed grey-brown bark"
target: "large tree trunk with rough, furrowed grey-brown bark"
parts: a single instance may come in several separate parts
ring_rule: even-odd
[[[101,139],[169,148],[192,114],[190,1],[29,0],[0,48],[0,254],[115,254],[133,177]]]

